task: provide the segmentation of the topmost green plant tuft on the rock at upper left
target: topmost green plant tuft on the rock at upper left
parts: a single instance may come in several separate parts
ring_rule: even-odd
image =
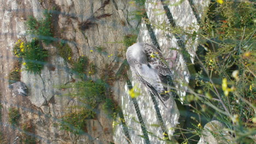
[[[45,44],[53,42],[53,29],[51,24],[51,14],[48,10],[44,11],[44,19],[37,20],[33,16],[28,16],[26,22],[27,33],[32,37],[42,40]]]

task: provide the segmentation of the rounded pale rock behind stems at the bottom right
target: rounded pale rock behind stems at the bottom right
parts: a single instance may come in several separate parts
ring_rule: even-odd
[[[203,128],[202,137],[197,144],[233,143],[228,131],[224,131],[225,125],[219,121],[208,122]]]

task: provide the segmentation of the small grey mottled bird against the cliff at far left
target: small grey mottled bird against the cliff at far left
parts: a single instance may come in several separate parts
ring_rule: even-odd
[[[27,87],[24,82],[18,81],[10,85],[13,89],[13,97],[17,95],[27,96]]]

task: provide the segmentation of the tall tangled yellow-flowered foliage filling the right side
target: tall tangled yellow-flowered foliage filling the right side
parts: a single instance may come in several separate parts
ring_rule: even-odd
[[[179,27],[159,25],[165,31],[199,35],[205,55],[197,55],[196,91],[190,91],[185,104],[198,117],[191,136],[201,135],[203,124],[212,117],[230,131],[230,143],[254,143],[255,122],[255,5],[247,2],[212,3],[208,15],[197,32]],[[191,114],[193,115],[193,114]],[[202,124],[202,125],[201,125]],[[186,128],[185,128],[186,129]],[[184,131],[183,131],[184,132]],[[187,131],[185,131],[187,133]],[[223,137],[221,133],[214,133]],[[183,138],[187,142],[191,137]],[[194,138],[193,138],[194,139]]]

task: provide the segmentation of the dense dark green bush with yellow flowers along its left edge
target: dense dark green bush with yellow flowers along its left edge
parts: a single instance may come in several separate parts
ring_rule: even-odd
[[[44,68],[45,57],[48,57],[48,51],[44,50],[42,45],[36,39],[32,39],[30,43],[25,44],[24,53],[22,58],[24,58],[25,70],[30,73],[39,74]]]

